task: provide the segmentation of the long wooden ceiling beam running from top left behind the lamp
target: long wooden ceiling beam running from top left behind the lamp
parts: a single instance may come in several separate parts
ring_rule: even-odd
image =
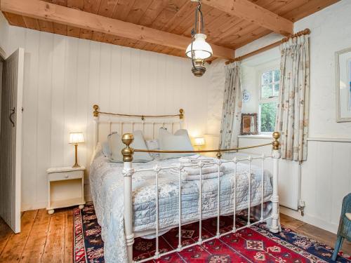
[[[24,15],[29,18],[58,22],[63,25],[93,30],[114,36],[122,36],[128,39],[145,41],[157,45],[168,46],[185,50],[192,39],[171,34],[150,27],[135,25],[102,15],[96,15],[67,8],[56,4],[50,4],[41,0],[1,0],[1,11]],[[216,58],[234,58],[234,50],[211,44],[213,56]]]

